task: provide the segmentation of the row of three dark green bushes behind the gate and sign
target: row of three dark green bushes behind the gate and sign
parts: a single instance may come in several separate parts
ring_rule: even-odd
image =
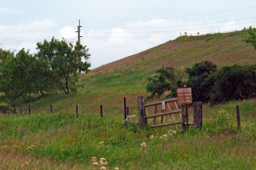
[[[186,69],[189,78],[184,82],[177,81],[173,68],[171,74],[168,69],[161,68],[157,75],[148,78],[147,92],[151,93],[151,97],[161,97],[169,90],[174,92],[181,85],[192,88],[194,102],[217,104],[256,97],[255,64],[217,68],[211,62],[199,62]]]

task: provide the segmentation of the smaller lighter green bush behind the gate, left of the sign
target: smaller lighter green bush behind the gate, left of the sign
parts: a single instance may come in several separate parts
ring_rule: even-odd
[[[160,68],[154,77],[147,78],[146,91],[151,98],[160,98],[165,92],[176,88],[175,70],[172,67]]]

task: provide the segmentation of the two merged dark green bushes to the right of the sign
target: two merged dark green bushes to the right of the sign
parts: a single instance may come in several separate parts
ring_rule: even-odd
[[[217,104],[256,96],[256,65],[217,68],[211,62],[199,62],[186,72],[194,102]]]

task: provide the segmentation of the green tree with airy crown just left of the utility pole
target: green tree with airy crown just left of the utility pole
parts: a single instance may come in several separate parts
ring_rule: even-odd
[[[53,80],[66,94],[76,86],[78,72],[88,72],[91,66],[88,62],[89,49],[78,42],[73,45],[64,39],[59,41],[52,37],[50,42],[38,42],[37,50],[36,57],[41,65],[39,73]]]

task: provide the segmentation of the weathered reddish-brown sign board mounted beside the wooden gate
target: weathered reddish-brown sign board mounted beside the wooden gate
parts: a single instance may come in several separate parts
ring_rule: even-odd
[[[192,103],[191,88],[178,88],[177,95],[178,95],[178,103],[179,104]]]

